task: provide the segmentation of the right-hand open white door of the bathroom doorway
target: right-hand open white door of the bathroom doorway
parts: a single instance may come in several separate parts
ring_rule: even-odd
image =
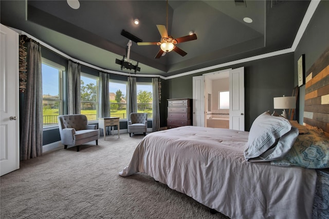
[[[230,129],[245,130],[244,67],[230,70]]]

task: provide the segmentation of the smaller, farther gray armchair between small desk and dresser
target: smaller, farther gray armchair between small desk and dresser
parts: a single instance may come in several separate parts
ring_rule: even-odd
[[[129,115],[128,132],[131,137],[131,133],[144,133],[148,127],[148,114],[142,112],[132,112]]]

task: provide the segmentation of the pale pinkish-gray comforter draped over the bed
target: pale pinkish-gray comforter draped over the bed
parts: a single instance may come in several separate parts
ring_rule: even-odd
[[[153,132],[119,174],[146,173],[231,218],[310,218],[316,172],[247,162],[248,133],[194,126]]]

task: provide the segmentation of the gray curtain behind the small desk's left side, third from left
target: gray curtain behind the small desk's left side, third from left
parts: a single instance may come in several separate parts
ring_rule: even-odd
[[[104,117],[109,117],[109,110],[110,110],[110,105],[109,105],[109,88],[108,88],[108,83],[109,83],[109,74],[104,73],[104,72],[99,72],[99,117],[104,118]],[[102,128],[102,127],[98,127]],[[106,127],[106,134],[109,134],[111,127]],[[104,136],[103,129],[99,129],[99,134],[100,136]]]

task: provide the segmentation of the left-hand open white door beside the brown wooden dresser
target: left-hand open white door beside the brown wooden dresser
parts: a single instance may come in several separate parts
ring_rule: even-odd
[[[193,77],[193,126],[205,127],[205,76]]]

